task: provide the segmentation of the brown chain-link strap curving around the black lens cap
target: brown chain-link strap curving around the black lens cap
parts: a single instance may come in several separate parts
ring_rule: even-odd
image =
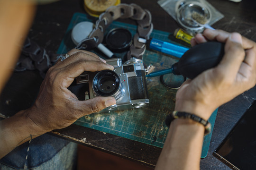
[[[137,34],[133,38],[133,44],[127,53],[127,59],[136,57],[142,59],[142,55],[146,50],[145,43],[139,42],[139,38],[149,40],[153,31],[151,22],[151,13],[147,9],[143,9],[137,4],[124,4],[107,8],[104,13],[99,16],[96,21],[95,29],[92,30],[89,38],[80,42],[76,48],[81,50],[91,50],[97,47],[104,37],[104,33],[110,24],[119,18],[131,18],[137,21]]]

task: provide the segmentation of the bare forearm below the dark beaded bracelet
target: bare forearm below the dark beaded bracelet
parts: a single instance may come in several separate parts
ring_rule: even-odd
[[[155,170],[199,170],[204,127],[188,119],[175,119]]]

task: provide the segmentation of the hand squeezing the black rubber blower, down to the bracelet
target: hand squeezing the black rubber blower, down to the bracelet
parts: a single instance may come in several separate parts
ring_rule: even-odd
[[[225,42],[225,55],[216,68],[187,80],[176,93],[175,110],[209,119],[225,102],[256,84],[256,43],[238,33],[206,29],[192,39],[192,46],[207,41]]]

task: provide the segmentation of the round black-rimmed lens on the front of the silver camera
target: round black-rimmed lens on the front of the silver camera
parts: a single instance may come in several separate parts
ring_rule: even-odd
[[[119,90],[120,78],[111,70],[102,70],[93,79],[93,90],[100,96],[112,96]]]

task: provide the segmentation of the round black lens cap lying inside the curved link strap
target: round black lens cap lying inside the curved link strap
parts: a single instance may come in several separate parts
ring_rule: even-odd
[[[125,28],[114,28],[107,34],[106,43],[112,51],[125,51],[132,44],[132,34]]]

